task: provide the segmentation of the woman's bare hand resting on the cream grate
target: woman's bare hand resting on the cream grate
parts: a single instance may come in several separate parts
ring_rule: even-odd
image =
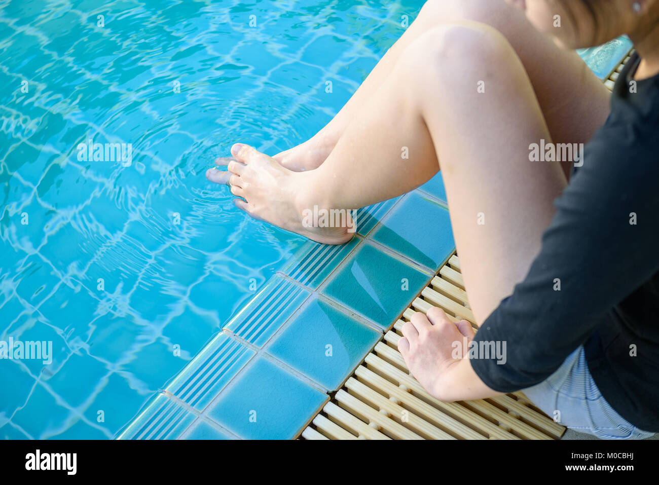
[[[407,368],[430,395],[449,400],[444,378],[463,357],[467,358],[473,338],[474,330],[467,320],[453,323],[444,310],[432,307],[427,316],[416,312],[405,323],[398,350]]]

